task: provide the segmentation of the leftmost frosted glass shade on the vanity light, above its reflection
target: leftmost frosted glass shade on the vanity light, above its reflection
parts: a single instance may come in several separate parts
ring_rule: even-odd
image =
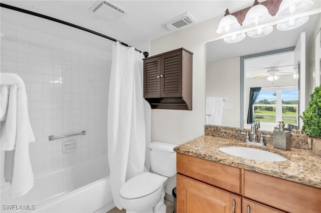
[[[220,34],[229,33],[237,30],[240,27],[241,24],[237,21],[236,17],[231,15],[229,9],[226,9],[224,17],[221,19],[216,32]]]

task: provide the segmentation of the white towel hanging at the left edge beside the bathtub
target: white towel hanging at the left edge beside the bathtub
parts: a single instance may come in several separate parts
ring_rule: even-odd
[[[13,74],[16,75],[16,74]],[[1,149],[15,149],[14,173],[10,194],[13,198],[23,196],[34,185],[34,174],[29,156],[29,142],[35,141],[29,115],[24,81],[10,86],[7,118],[1,126]]]

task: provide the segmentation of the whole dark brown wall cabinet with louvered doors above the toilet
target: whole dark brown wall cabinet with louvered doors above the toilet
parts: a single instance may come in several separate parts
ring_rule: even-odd
[[[151,108],[192,110],[193,52],[179,48],[143,60],[144,98]]]

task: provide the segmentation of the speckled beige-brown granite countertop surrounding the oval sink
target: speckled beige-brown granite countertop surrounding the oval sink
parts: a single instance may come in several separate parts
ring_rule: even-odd
[[[221,146],[246,146],[268,150],[286,157],[286,161],[269,162],[233,156],[219,150]],[[311,150],[292,148],[282,150],[272,144],[262,147],[237,139],[203,135],[174,148],[175,151],[203,159],[280,177],[294,182],[321,188],[321,155]]]

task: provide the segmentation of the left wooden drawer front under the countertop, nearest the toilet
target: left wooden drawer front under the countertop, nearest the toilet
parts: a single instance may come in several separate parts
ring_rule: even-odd
[[[241,193],[241,169],[177,153],[177,172],[203,182]]]

